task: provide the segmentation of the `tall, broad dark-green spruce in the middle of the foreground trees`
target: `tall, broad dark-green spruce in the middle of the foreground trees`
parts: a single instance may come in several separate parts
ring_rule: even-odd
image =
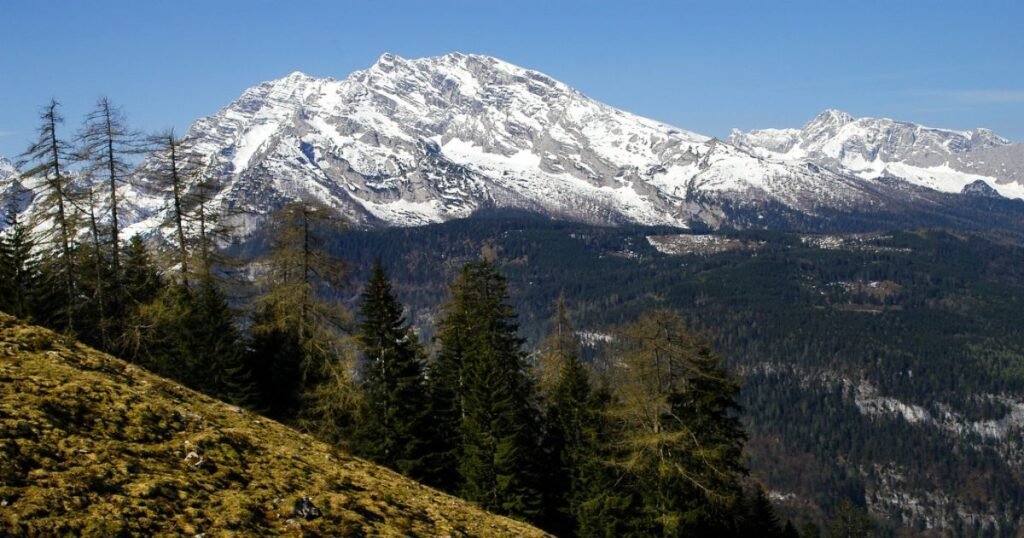
[[[441,462],[457,463],[463,497],[493,511],[537,520],[536,389],[505,279],[488,261],[470,263],[451,293],[431,370],[434,423],[438,433],[452,436],[439,447]]]

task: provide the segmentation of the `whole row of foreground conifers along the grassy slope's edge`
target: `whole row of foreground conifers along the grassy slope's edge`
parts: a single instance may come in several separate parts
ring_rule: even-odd
[[[561,297],[527,351],[482,259],[422,342],[379,260],[357,313],[337,300],[348,267],[325,245],[344,224],[313,202],[272,215],[265,253],[230,280],[209,163],[171,132],[145,146],[164,240],[125,241],[118,193],[137,135],[108,99],[76,143],[60,125],[53,101],[23,156],[46,210],[23,222],[7,208],[0,309],[558,535],[801,534],[746,477],[739,385],[679,314],[642,314],[585,362]]]

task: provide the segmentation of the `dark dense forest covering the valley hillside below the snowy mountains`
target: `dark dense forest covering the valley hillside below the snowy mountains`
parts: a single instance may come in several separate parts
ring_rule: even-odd
[[[562,292],[591,335],[588,357],[600,355],[594,335],[607,328],[651,307],[679,309],[742,373],[751,465],[772,488],[813,499],[824,513],[852,497],[924,530],[923,514],[885,500],[896,481],[989,515],[951,519],[965,532],[1019,525],[1020,428],[993,436],[971,425],[998,424],[1024,394],[1024,250],[929,230],[736,232],[720,235],[736,248],[683,255],[647,240],[671,233],[520,215],[351,232],[333,249],[357,266],[382,256],[428,335],[443,276],[481,252],[508,275],[531,341]],[[945,426],[862,411],[858,399],[872,395],[916,406]]]

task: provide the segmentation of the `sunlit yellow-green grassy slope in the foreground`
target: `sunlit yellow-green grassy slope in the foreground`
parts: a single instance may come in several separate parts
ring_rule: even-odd
[[[543,536],[0,314],[0,535],[199,534]]]

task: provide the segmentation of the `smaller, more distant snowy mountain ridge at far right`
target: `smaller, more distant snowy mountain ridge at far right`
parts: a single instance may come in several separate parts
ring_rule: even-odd
[[[898,177],[944,193],[981,180],[1024,198],[1024,144],[988,129],[954,131],[827,110],[800,129],[733,131],[729,141],[779,162],[812,162],[864,179]]]

